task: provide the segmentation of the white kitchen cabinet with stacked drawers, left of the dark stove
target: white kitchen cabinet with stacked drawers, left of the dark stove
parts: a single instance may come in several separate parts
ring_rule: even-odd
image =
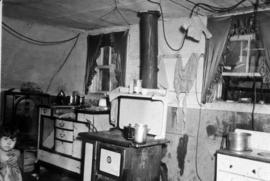
[[[70,109],[63,115],[55,108],[39,108],[38,163],[80,174],[82,142],[78,134],[109,129],[109,113]]]

